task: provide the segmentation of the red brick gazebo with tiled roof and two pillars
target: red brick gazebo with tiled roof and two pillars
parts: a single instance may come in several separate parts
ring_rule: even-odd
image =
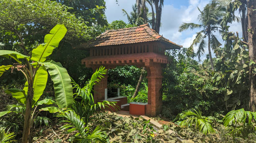
[[[106,69],[123,65],[145,67],[148,79],[148,103],[145,113],[157,116],[161,112],[162,67],[168,64],[165,50],[180,49],[182,46],[169,41],[152,30],[148,24],[119,30],[108,30],[95,39],[82,44],[82,49],[90,50],[90,56],[82,59],[82,64],[96,70],[101,65]],[[108,75],[94,87],[94,100],[106,99]],[[121,104],[127,105],[121,102]],[[131,107],[130,107],[131,108]],[[130,112],[131,113],[131,112]]]

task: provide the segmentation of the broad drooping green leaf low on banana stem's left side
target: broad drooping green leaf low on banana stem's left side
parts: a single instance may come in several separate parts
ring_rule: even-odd
[[[5,90],[6,94],[12,94],[13,98],[17,99],[18,102],[26,104],[26,94],[22,89],[7,89]]]

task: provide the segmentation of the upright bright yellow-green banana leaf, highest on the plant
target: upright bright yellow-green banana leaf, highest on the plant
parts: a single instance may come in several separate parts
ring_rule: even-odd
[[[51,55],[55,47],[59,46],[59,42],[65,36],[66,32],[67,28],[64,25],[56,25],[50,31],[50,34],[44,37],[45,44],[40,44],[36,49],[33,49],[31,60],[44,62],[46,57]]]

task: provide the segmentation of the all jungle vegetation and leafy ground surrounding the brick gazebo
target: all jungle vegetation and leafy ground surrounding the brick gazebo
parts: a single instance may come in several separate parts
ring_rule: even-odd
[[[104,0],[1,0],[0,143],[255,143],[255,0],[211,0],[198,8],[196,23],[180,25],[180,32],[198,31],[190,47],[165,52],[172,62],[163,69],[164,104],[154,119],[172,123],[156,131],[149,120],[103,110],[115,102],[94,102],[93,87],[107,73],[108,89],[147,102],[146,70],[92,71],[81,64],[89,52],[75,47],[106,30],[146,23],[159,33],[163,7],[164,0],[134,0],[131,13],[123,10],[128,23],[108,23]],[[235,21],[242,35],[230,31]]]

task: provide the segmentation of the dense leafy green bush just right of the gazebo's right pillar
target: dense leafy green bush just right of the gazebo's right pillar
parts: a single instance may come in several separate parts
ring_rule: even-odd
[[[224,111],[223,95],[226,90],[212,84],[212,72],[192,59],[186,49],[172,55],[168,55],[172,63],[163,69],[164,106],[170,108],[173,115],[191,108],[201,108],[207,116]],[[167,112],[163,114],[168,116]]]

